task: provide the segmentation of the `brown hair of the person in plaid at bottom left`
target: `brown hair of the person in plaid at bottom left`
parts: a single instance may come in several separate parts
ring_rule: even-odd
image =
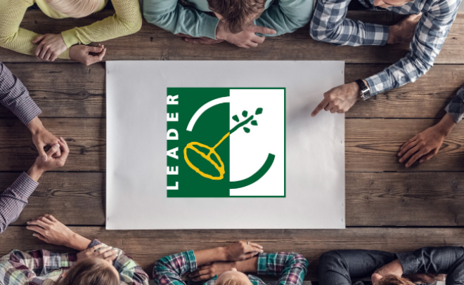
[[[106,261],[86,258],[80,261],[61,279],[60,285],[120,285],[120,279]]]

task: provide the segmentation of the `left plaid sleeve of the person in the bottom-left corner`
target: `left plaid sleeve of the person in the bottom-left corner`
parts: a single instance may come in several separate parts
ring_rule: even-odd
[[[76,261],[75,253],[13,250],[0,258],[0,284],[43,284],[44,281],[37,277],[50,274],[53,270],[69,268]]]

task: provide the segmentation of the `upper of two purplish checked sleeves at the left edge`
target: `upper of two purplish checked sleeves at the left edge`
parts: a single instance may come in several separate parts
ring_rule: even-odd
[[[0,103],[26,126],[41,113],[34,100],[30,98],[26,87],[2,62],[0,62]]]

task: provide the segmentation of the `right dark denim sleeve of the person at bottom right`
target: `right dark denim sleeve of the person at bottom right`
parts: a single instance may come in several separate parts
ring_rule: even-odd
[[[424,247],[411,253],[398,253],[397,256],[403,267],[404,275],[417,272],[448,274],[453,265],[464,257],[464,248],[460,246]]]

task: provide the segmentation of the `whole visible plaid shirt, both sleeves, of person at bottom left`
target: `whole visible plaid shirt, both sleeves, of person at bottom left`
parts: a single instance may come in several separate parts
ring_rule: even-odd
[[[88,248],[101,244],[94,239]],[[53,285],[77,262],[77,253],[53,253],[46,250],[18,251],[0,258],[0,284]],[[120,250],[112,263],[120,273],[121,284],[148,285],[148,275]]]

